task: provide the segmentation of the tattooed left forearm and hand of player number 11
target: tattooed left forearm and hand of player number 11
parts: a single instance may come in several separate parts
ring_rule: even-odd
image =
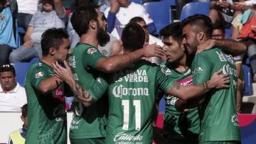
[[[58,62],[53,63],[53,69],[56,77],[59,77],[63,80],[63,82],[66,82],[70,86],[74,95],[82,102],[84,106],[90,106],[95,102],[95,100],[92,99],[92,96],[90,96],[89,92],[87,92],[87,89],[81,87],[78,82],[75,82],[71,69],[68,66],[68,62],[65,61],[64,65],[65,68],[60,66]]]

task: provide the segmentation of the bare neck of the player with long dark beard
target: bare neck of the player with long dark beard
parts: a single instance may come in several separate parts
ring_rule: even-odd
[[[93,33],[86,33],[80,37],[80,43],[87,43],[97,48],[97,46],[99,45],[99,40],[97,40],[97,36]]]

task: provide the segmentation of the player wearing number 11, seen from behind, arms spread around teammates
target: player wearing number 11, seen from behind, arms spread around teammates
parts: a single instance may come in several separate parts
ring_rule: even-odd
[[[142,27],[137,23],[129,23],[122,32],[122,44],[125,53],[142,48]],[[181,99],[190,99],[207,92],[210,87],[216,87],[215,82],[226,81],[220,78],[223,76],[215,75],[206,83],[182,87],[168,79],[159,66],[139,60],[123,70],[97,79],[89,94],[74,81],[68,74],[70,72],[59,65],[55,69],[58,77],[68,82],[84,106],[90,106],[107,91],[110,107],[105,143],[152,143],[151,115],[158,89]]]

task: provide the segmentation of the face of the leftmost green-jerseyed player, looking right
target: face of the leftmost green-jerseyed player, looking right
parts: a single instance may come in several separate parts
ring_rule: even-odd
[[[55,49],[54,59],[63,63],[67,60],[68,54],[70,54],[70,41],[67,38],[63,38],[63,43],[58,49]]]

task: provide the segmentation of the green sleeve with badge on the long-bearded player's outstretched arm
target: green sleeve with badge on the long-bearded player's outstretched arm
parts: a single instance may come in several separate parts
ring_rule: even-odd
[[[97,48],[88,48],[85,55],[86,57],[84,58],[83,62],[94,69],[96,69],[97,63],[104,58]]]

